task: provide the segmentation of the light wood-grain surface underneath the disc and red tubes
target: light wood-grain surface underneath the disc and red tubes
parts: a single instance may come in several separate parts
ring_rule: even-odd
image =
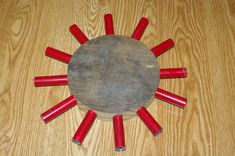
[[[140,119],[125,121],[127,150],[114,151],[111,122],[96,120],[82,146],[71,138],[83,118],[77,107],[48,124],[40,114],[70,95],[67,86],[35,88],[36,75],[65,74],[44,56],[47,46],[73,53],[76,23],[89,38],[104,34],[112,13],[116,34],[130,36],[146,16],[148,47],[173,38],[161,67],[187,67],[188,78],[160,87],[188,98],[185,110],[155,100],[149,111],[164,128],[154,138]],[[234,0],[0,0],[0,155],[234,155]]]

